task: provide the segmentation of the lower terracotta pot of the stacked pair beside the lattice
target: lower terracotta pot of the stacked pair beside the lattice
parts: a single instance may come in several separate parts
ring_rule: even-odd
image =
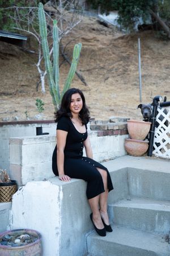
[[[125,139],[125,150],[129,155],[141,156],[148,149],[148,141],[140,141],[138,139]]]

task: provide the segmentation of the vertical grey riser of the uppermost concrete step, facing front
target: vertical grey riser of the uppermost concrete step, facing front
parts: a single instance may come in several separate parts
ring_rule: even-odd
[[[128,168],[129,195],[155,200],[169,200],[170,172]]]

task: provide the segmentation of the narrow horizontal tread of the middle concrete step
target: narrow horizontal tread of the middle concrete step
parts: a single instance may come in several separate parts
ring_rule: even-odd
[[[152,210],[165,210],[170,212],[170,201],[135,198],[120,200],[109,207],[128,207]]]

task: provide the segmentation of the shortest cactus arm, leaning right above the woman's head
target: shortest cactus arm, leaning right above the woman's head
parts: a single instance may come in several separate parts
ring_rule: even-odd
[[[71,63],[69,73],[67,75],[65,85],[63,87],[62,96],[66,92],[66,90],[69,89],[70,84],[73,80],[73,77],[74,77],[75,71],[76,71],[76,67],[77,67],[77,64],[78,64],[78,61],[79,61],[81,49],[82,49],[82,44],[81,43],[75,44],[74,50],[73,50],[73,60],[72,60],[72,63]]]

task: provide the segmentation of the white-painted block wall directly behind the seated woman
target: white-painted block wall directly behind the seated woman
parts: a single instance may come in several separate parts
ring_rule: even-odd
[[[102,162],[126,154],[124,139],[128,135],[98,136],[90,131],[94,159]],[[53,177],[52,154],[56,146],[56,136],[10,138],[10,177],[18,185],[28,181],[39,181]]]

